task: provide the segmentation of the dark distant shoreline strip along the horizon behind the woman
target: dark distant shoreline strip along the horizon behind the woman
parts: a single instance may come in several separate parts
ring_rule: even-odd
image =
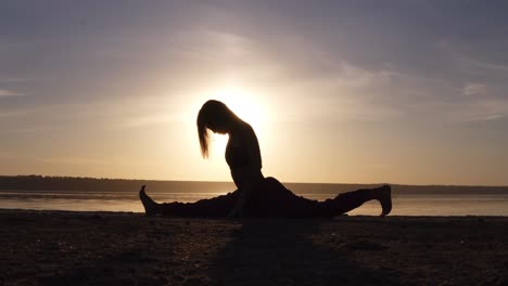
[[[161,180],[131,180],[131,179],[97,179],[78,177],[43,177],[43,176],[0,176],[0,190],[12,191],[136,191],[141,185],[148,185],[152,192],[224,192],[234,191],[232,182],[206,181],[161,181]],[[342,193],[358,188],[370,188],[379,184],[351,184],[351,183],[291,183],[284,185],[295,193]],[[467,185],[406,185],[391,184],[392,190],[404,193],[427,194],[508,194],[508,186],[467,186]],[[178,191],[176,191],[178,190]]]

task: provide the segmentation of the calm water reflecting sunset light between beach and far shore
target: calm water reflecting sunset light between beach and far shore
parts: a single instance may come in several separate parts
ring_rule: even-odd
[[[195,202],[227,193],[149,192],[157,202]],[[330,192],[297,193],[323,200]],[[508,194],[415,194],[394,192],[394,216],[508,216]],[[78,211],[143,211],[137,192],[48,192],[0,190],[0,208]],[[350,214],[379,214],[379,203],[367,203]]]

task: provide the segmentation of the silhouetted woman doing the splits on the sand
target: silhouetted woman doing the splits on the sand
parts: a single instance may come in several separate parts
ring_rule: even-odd
[[[252,127],[219,101],[207,101],[198,114],[201,153],[208,156],[209,132],[229,134],[226,161],[238,190],[227,195],[195,203],[157,204],[139,192],[147,214],[173,217],[335,217],[364,203],[377,199],[381,217],[392,210],[391,187],[358,190],[339,194],[325,202],[296,196],[274,178],[262,173],[262,157],[257,136]]]

